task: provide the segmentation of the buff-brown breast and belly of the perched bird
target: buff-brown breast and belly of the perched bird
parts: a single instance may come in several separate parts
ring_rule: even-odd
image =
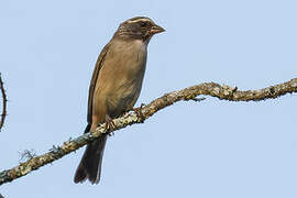
[[[133,106],[141,91],[145,65],[146,44],[112,43],[97,80],[98,100],[107,101],[117,111]]]

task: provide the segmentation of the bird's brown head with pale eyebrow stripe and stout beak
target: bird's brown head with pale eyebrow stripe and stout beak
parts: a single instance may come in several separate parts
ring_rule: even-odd
[[[164,31],[162,26],[155,24],[150,18],[136,16],[121,23],[114,33],[114,37],[148,42],[154,34]]]

